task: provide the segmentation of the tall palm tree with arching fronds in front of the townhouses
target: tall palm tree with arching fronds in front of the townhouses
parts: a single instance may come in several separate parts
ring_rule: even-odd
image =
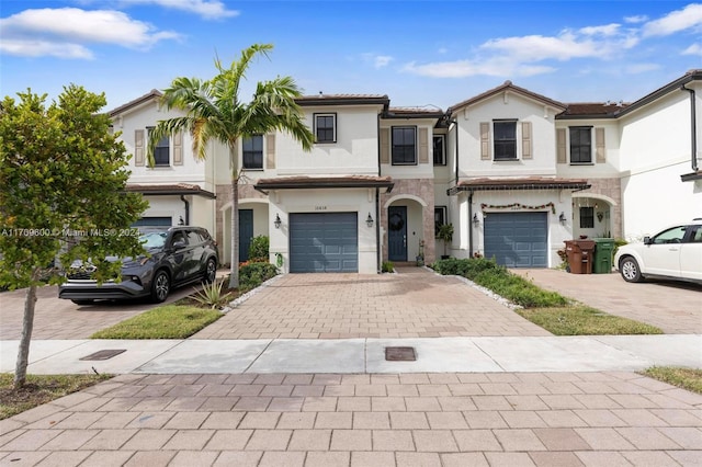
[[[278,77],[258,82],[250,102],[239,98],[241,81],[251,60],[273,48],[270,44],[254,44],[241,50],[241,57],[225,68],[216,58],[217,75],[210,80],[176,78],[163,91],[161,103],[168,109],[179,109],[185,116],[158,122],[151,132],[147,159],[154,166],[154,149],[159,139],[180,132],[189,132],[193,138],[196,159],[207,158],[207,144],[219,141],[229,149],[231,167],[231,274],[229,287],[239,286],[239,179],[238,141],[242,137],[283,130],[310,150],[314,135],[305,125],[303,112],[295,102],[302,95],[291,77]]]

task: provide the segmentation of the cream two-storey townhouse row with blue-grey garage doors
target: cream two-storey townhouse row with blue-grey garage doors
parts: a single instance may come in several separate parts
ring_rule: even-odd
[[[383,94],[303,96],[312,151],[285,133],[239,143],[239,255],[264,235],[285,272],[375,273],[444,248],[552,267],[564,240],[631,240],[700,217],[701,80],[691,70],[632,103],[563,103],[510,81],[445,111]],[[159,96],[110,112],[133,155],[128,190],[150,203],[140,223],[201,225],[229,258],[228,152],[212,145],[195,161],[190,136],[172,135],[146,167],[149,128],[174,115]],[[444,246],[435,235],[449,223]]]

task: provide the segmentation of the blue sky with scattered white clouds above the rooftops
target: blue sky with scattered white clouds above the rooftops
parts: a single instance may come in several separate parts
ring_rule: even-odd
[[[511,80],[562,102],[633,101],[702,68],[702,3],[679,1],[3,0],[0,91],[76,83],[110,110],[274,45],[249,82],[439,106]],[[244,90],[242,98],[248,91]]]

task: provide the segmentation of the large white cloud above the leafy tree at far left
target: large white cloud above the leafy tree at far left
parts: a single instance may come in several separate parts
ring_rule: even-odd
[[[92,55],[84,44],[149,48],[159,41],[180,37],[132,20],[121,11],[77,8],[25,10],[0,20],[0,30],[5,53],[63,58],[90,58]],[[10,42],[10,46],[5,47],[5,42]]]

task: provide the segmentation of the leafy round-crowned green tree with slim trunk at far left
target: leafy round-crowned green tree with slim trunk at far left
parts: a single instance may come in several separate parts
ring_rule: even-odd
[[[26,287],[14,386],[24,385],[36,289],[64,278],[55,261],[91,260],[95,278],[118,277],[107,255],[144,252],[128,227],[146,208],[125,193],[124,145],[110,134],[106,103],[71,84],[48,107],[46,94],[5,96],[0,107],[0,285]]]

